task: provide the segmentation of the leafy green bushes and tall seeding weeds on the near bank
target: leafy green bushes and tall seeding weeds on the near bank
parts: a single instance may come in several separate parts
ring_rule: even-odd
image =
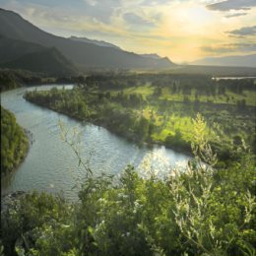
[[[118,180],[84,180],[79,201],[32,192],[2,212],[5,255],[255,255],[255,161],[213,168],[200,116],[195,160],[164,179],[142,178],[128,166]],[[207,161],[208,165],[201,160]]]

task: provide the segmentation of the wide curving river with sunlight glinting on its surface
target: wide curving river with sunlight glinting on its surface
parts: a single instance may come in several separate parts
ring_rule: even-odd
[[[67,199],[77,198],[79,184],[85,171],[78,167],[72,150],[60,139],[59,120],[65,126],[77,126],[81,131],[81,157],[89,160],[94,173],[118,175],[131,163],[142,171],[160,169],[166,174],[176,165],[184,165],[188,156],[165,149],[163,146],[139,148],[125,139],[115,136],[104,128],[81,124],[63,114],[34,105],[23,98],[27,90],[49,90],[53,86],[21,88],[1,94],[1,104],[12,111],[18,123],[32,132],[32,144],[27,158],[16,171],[2,178],[2,195],[17,190],[62,193]],[[62,86],[55,86],[62,88]],[[65,86],[71,89],[73,86]],[[141,172],[146,175],[147,172]],[[78,186],[76,186],[78,185]]]

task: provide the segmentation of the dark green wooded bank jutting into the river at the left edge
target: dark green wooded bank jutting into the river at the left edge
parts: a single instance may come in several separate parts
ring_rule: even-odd
[[[28,138],[14,114],[1,106],[1,175],[12,171],[27,154]]]

